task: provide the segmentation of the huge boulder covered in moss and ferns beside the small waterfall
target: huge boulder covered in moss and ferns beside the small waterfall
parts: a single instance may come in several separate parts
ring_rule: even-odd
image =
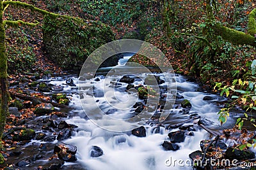
[[[111,28],[98,21],[81,18],[45,17],[44,46],[49,58],[63,68],[79,68],[94,50],[115,39]],[[100,56],[99,56],[100,57]],[[108,60],[116,65],[118,57]],[[93,59],[98,65],[99,59]],[[115,62],[115,63],[114,63]],[[106,62],[105,62],[106,63]]]

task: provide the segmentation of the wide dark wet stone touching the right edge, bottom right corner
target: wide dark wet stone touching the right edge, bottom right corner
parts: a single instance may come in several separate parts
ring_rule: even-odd
[[[250,150],[238,150],[235,148],[228,148],[225,152],[225,157],[230,160],[248,160],[255,159],[255,153],[251,152]]]

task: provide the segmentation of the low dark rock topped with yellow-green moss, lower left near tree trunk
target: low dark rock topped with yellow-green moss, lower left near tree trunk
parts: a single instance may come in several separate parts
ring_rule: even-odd
[[[29,141],[36,136],[36,132],[33,129],[22,129],[14,132],[13,141]]]

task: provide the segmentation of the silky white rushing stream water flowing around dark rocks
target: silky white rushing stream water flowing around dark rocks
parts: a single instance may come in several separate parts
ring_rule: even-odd
[[[118,65],[121,66],[123,65],[122,63],[123,62],[120,61]],[[155,74],[163,78],[162,73]],[[145,78],[145,76],[147,75],[141,74],[140,78]],[[154,121],[152,121],[153,123],[151,124],[146,120],[137,122],[146,128],[147,136],[145,138],[138,138],[132,135],[131,131],[108,131],[106,130],[108,127],[111,127],[111,129],[133,127],[135,124],[134,122],[124,120],[121,121],[121,123],[119,121],[118,124],[116,124],[116,122],[111,122],[108,117],[118,119],[132,117],[132,115],[134,115],[134,108],[132,108],[133,104],[136,101],[142,100],[138,99],[138,97],[132,93],[127,94],[127,92],[125,92],[127,83],[120,83],[118,85],[113,85],[113,83],[111,83],[111,81],[118,81],[122,76],[114,76],[113,78],[111,76],[104,76],[104,74],[98,74],[97,77],[99,77],[99,81],[94,81],[95,78],[79,81],[77,76],[72,77],[76,85],[80,83],[83,84],[84,87],[86,87],[86,85],[90,87],[93,83],[93,86],[96,89],[95,92],[98,92],[97,94],[94,94],[96,97],[92,97],[93,94],[89,92],[90,90],[84,90],[81,95],[81,93],[77,93],[77,87],[64,87],[65,91],[72,93],[70,106],[73,109],[70,111],[70,117],[67,122],[68,124],[78,126],[73,132],[72,138],[67,139],[64,142],[77,146],[77,162],[82,164],[84,169],[193,169],[191,166],[186,165],[189,163],[188,155],[195,150],[200,150],[200,141],[202,139],[209,139],[209,133],[204,131],[204,129],[197,128],[194,132],[194,136],[186,136],[185,141],[178,144],[180,146],[179,150],[166,151],[161,144],[164,140],[170,140],[168,139],[169,132],[179,130],[170,129],[168,128],[168,125],[177,124],[188,119],[191,115],[199,115],[205,119],[207,125],[212,129],[221,130],[223,128],[220,127],[218,123],[217,113],[220,108],[216,104],[216,101],[223,98],[213,94],[207,94],[206,92],[198,92],[197,90],[199,87],[196,83],[186,81],[185,76],[176,75],[177,102],[174,104],[173,108],[166,110],[170,115],[161,123],[161,125],[159,122],[154,123]],[[55,85],[63,85],[63,83],[65,83],[65,78],[51,80],[51,83]],[[143,83],[141,82],[141,79],[136,79],[133,84],[139,85],[141,83]],[[112,93],[113,89],[115,89],[115,94]],[[104,92],[103,96],[102,92]],[[113,95],[115,97],[113,97]],[[212,99],[210,101],[205,101],[205,96],[211,96]],[[184,110],[180,107],[179,103],[183,99],[188,99],[191,102],[192,107],[190,110]],[[84,110],[81,103],[84,104]],[[93,108],[95,103],[100,110],[109,114],[100,118],[95,118],[95,120],[92,121],[86,116],[84,111],[92,117],[92,115],[94,115],[93,111],[97,111],[97,109]],[[115,107],[113,108],[113,106],[118,108],[118,104],[121,104],[122,107],[126,109],[119,110],[115,109]],[[187,124],[192,123],[190,122]],[[231,118],[226,126],[230,127],[232,125],[234,125],[234,120]],[[158,130],[156,130],[156,127],[158,127]],[[90,150],[93,145],[102,148],[104,154],[100,157],[90,157]],[[179,159],[184,160],[180,166],[177,162],[173,162],[173,160]],[[187,162],[185,163],[186,160]],[[170,162],[172,162],[172,164],[170,164]]]

